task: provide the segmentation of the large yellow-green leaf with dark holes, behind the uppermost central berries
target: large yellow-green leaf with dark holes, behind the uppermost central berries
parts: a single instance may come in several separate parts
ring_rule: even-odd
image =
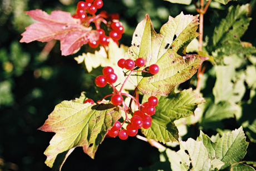
[[[191,78],[207,57],[185,54],[188,44],[199,35],[198,16],[179,14],[169,17],[169,21],[156,33],[149,16],[138,24],[132,37],[132,46],[125,58],[145,59],[145,67],[159,66],[159,73],[136,72],[131,82],[144,94],[166,95],[177,84]]]

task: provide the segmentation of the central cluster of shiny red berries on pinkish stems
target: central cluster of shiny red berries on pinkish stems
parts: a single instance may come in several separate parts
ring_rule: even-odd
[[[120,123],[119,120],[117,120],[114,123],[112,128],[108,130],[107,136],[116,137],[118,135],[120,139],[127,139],[128,136],[130,137],[135,136],[138,132],[138,129],[140,128],[148,129],[151,127],[151,122],[152,122],[151,115],[155,114],[155,107],[158,103],[158,99],[154,96],[151,96],[147,99],[147,102],[140,104],[139,99],[137,99],[139,95],[135,95],[135,97],[137,97],[135,98],[130,94],[121,93],[122,88],[124,87],[124,84],[126,83],[127,79],[131,76],[132,73],[147,72],[151,74],[157,74],[159,72],[159,67],[157,66],[157,64],[152,64],[151,66],[149,66],[149,71],[135,70],[135,68],[137,67],[141,68],[145,66],[145,60],[143,58],[137,58],[136,61],[132,61],[132,59],[120,59],[117,62],[117,65],[120,68],[125,68],[130,71],[124,83],[122,84],[120,90],[117,90],[116,86],[114,86],[114,83],[116,83],[117,81],[117,75],[115,74],[114,69],[112,67],[103,68],[102,75],[97,76],[95,78],[95,84],[98,87],[105,87],[107,84],[109,84],[109,86],[112,87],[114,93],[106,95],[103,99],[111,96],[111,103],[118,106],[121,110],[124,110],[125,116],[126,116],[123,123]],[[136,93],[137,91],[135,90],[134,94]],[[134,100],[135,104],[137,105],[138,109],[135,110],[131,118],[129,118],[127,115],[127,113],[132,113],[131,106],[128,107],[124,103],[123,96],[131,98],[131,102],[132,100]],[[130,105],[131,105],[131,102],[130,102]],[[91,99],[86,99],[85,103],[93,104],[94,102]]]

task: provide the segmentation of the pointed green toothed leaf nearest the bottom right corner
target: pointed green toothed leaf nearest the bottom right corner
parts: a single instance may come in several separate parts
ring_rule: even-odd
[[[225,163],[221,169],[240,162],[244,158],[249,144],[245,142],[245,138],[243,129],[240,127],[231,133],[223,134],[218,140],[216,143],[216,158]]]

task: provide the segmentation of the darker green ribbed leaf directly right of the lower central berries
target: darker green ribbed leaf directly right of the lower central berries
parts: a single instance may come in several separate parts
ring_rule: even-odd
[[[149,129],[142,129],[142,133],[159,142],[178,142],[178,129],[174,120],[192,115],[197,105],[203,102],[204,99],[192,89],[179,93],[173,91],[166,97],[159,97],[157,112],[152,115],[152,125]]]

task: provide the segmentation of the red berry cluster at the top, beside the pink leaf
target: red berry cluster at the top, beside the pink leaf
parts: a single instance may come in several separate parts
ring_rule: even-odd
[[[78,18],[85,26],[90,26],[90,23],[95,23],[96,31],[99,33],[99,39],[96,41],[89,41],[88,44],[92,48],[97,48],[99,44],[101,46],[108,46],[109,39],[112,38],[116,44],[119,44],[119,40],[124,33],[124,26],[119,22],[119,14],[108,14],[106,11],[100,12],[95,15],[97,9],[103,6],[102,0],[86,0],[77,3],[76,14],[73,18]],[[100,27],[101,22],[107,26],[107,36],[104,29]]]

